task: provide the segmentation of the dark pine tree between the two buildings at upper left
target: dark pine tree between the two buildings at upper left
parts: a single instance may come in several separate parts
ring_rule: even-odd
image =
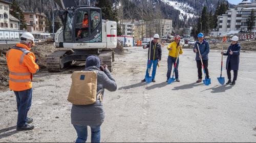
[[[15,18],[19,19],[19,23],[20,23],[20,27],[19,29],[20,30],[27,30],[27,24],[26,24],[26,20],[25,20],[25,17],[24,17],[24,13],[22,11],[22,9],[19,8],[18,6],[18,3],[16,0],[12,0],[12,5],[10,7],[11,11],[10,11],[10,14],[12,16],[14,16]],[[17,14],[17,12],[19,14]]]

